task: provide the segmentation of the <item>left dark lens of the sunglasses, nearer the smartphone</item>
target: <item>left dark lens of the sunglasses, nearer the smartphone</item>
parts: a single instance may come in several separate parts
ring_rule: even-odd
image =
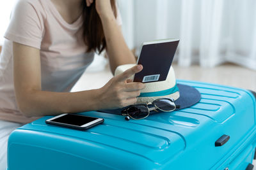
[[[148,116],[149,111],[147,106],[132,106],[127,110],[127,113],[130,117],[135,119],[145,118]]]

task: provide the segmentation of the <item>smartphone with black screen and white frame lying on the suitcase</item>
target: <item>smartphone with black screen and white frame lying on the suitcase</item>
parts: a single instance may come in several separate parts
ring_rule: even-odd
[[[75,115],[70,113],[63,113],[56,117],[45,120],[46,124],[60,125],[74,129],[85,130],[104,122],[103,118],[86,117],[84,115]]]

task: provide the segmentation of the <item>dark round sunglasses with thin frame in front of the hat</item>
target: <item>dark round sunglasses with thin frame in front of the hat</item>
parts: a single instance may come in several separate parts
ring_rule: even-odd
[[[148,108],[148,106],[152,106]],[[130,118],[134,120],[140,120],[148,117],[150,111],[173,111],[176,108],[180,108],[179,105],[174,104],[174,100],[172,98],[160,98],[156,99],[152,103],[148,104],[135,104],[125,110],[122,110],[121,113],[125,116],[125,120],[130,120]]]

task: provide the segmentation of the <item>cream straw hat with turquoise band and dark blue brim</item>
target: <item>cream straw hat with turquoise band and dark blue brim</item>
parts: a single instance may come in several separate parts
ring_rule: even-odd
[[[124,64],[116,67],[115,76],[136,64]],[[131,77],[133,79],[133,76]],[[154,81],[145,83],[145,89],[137,97],[137,103],[152,103],[159,98],[172,98],[174,103],[180,108],[187,108],[200,101],[201,95],[198,90],[188,85],[177,84],[173,67],[170,67],[168,76],[164,81]]]

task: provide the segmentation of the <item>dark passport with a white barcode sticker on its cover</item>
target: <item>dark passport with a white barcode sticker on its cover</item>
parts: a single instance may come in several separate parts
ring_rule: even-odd
[[[143,70],[134,75],[133,81],[147,83],[166,80],[178,45],[179,39],[143,43],[137,60]]]

